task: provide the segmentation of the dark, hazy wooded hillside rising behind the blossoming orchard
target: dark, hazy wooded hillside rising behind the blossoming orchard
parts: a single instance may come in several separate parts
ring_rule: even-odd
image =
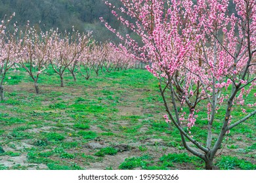
[[[114,1],[115,2],[115,1]],[[11,16],[20,29],[24,29],[28,20],[30,25],[39,27],[43,31],[52,27],[60,31],[72,31],[72,26],[78,31],[93,31],[97,41],[116,39],[99,18],[110,22],[116,29],[120,24],[111,14],[111,10],[102,0],[0,0],[0,19],[5,15]],[[11,26],[9,26],[11,29]],[[117,41],[117,39],[116,39]]]

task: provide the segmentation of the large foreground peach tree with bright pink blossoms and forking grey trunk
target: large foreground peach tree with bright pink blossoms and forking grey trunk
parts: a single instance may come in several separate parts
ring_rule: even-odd
[[[159,80],[165,121],[179,129],[186,150],[203,159],[205,169],[213,169],[230,129],[256,113],[256,93],[248,99],[256,85],[256,1],[120,1],[121,7],[106,5],[139,35],[142,46],[102,22],[133,48],[137,59],[152,63],[146,69]],[[234,110],[246,114],[234,118]],[[205,120],[198,117],[203,113]],[[192,130],[197,122],[205,124],[204,141]]]

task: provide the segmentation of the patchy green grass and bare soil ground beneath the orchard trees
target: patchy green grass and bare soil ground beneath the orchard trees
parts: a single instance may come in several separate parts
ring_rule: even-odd
[[[39,94],[23,71],[9,72],[6,81],[0,170],[203,169],[202,160],[184,150],[179,131],[165,123],[158,81],[145,70],[89,80],[77,75],[77,82],[66,73],[64,88],[49,70],[39,79]],[[206,115],[192,129],[202,141]],[[232,129],[217,153],[217,169],[256,169],[255,127],[251,118]]]

